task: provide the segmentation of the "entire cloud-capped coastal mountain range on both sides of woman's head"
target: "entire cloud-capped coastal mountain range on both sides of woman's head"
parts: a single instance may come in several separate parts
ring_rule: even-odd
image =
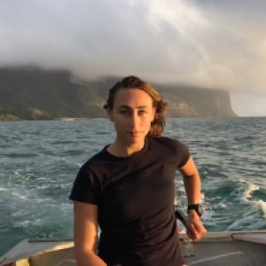
[[[82,81],[65,70],[0,68],[0,120],[106,117],[102,106],[119,79],[106,76]],[[236,116],[225,90],[153,86],[167,99],[170,117]]]

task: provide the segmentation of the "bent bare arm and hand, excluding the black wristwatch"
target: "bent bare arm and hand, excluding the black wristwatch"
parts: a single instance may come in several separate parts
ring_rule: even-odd
[[[200,203],[200,175],[192,157],[186,164],[179,168],[184,178],[184,189],[187,195],[188,205]],[[207,233],[196,211],[191,210],[188,214],[187,234],[193,240],[199,240]]]

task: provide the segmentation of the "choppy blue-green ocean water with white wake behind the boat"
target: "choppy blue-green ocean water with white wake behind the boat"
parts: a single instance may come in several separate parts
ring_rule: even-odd
[[[208,231],[266,229],[266,118],[168,119],[189,146]],[[0,122],[0,255],[26,238],[72,238],[68,195],[82,163],[113,141],[106,120]],[[184,184],[176,172],[179,207]]]

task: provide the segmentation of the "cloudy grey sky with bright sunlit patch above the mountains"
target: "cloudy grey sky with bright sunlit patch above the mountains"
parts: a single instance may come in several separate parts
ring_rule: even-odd
[[[264,0],[1,0],[0,66],[228,90],[266,116]]]

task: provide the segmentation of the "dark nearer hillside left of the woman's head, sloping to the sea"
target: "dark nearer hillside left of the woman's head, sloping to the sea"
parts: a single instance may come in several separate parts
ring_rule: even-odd
[[[0,110],[20,119],[100,117],[102,102],[90,88],[72,82],[67,71],[0,70]]]

